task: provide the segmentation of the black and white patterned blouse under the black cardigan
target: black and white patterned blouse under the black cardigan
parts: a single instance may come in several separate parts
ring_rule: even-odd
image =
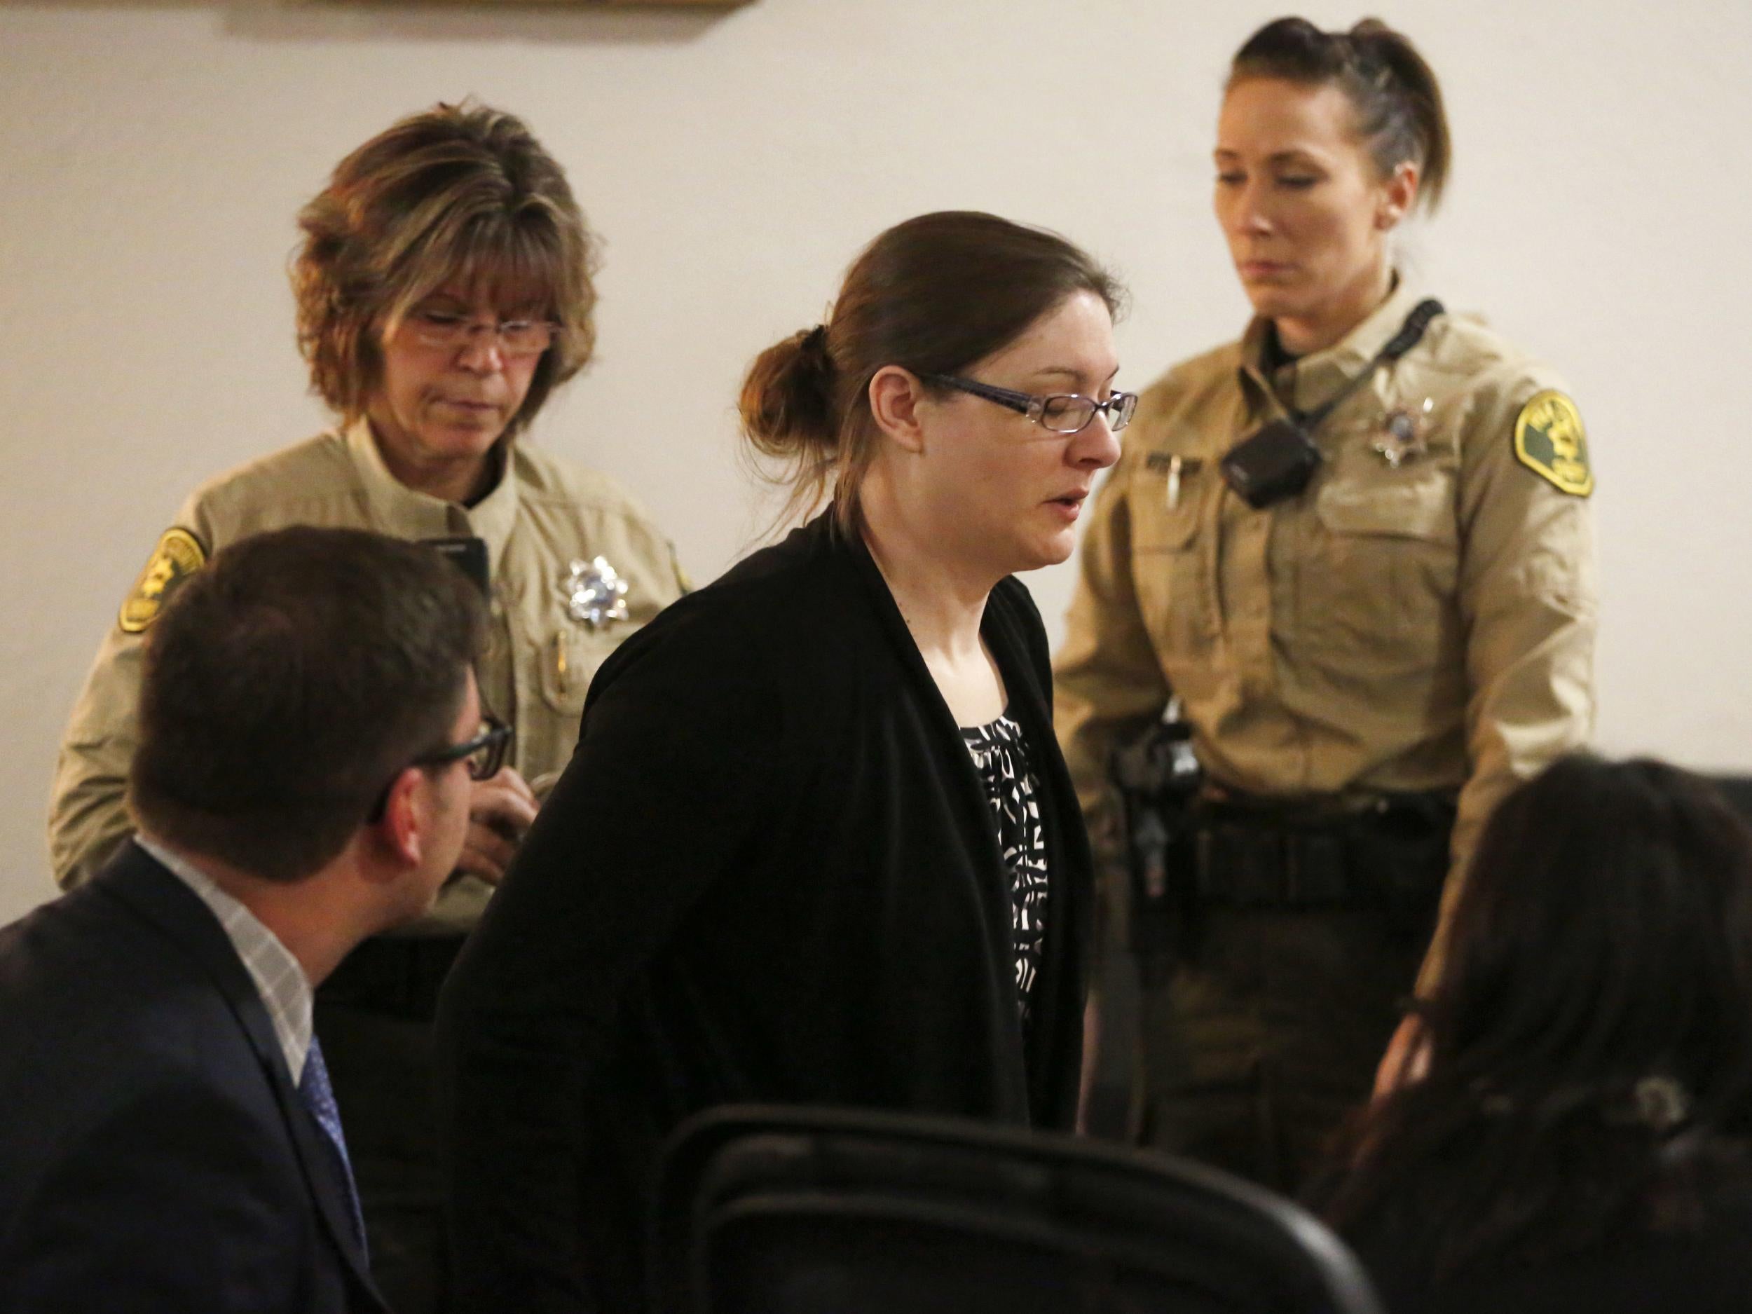
[[[1028,764],[1028,743],[1007,715],[988,725],[964,725],[962,739],[992,802],[999,846],[1009,867],[1011,929],[1016,941],[1016,1004],[1028,1025],[1034,978],[1046,943],[1046,829],[1041,781]]]

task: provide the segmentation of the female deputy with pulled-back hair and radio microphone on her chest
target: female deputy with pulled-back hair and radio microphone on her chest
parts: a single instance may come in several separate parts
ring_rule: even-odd
[[[1118,843],[1120,797],[1134,820],[1137,1132],[1286,1188],[1368,1095],[1419,964],[1438,976],[1491,806],[1594,711],[1580,415],[1389,258],[1447,166],[1400,33],[1286,18],[1240,49],[1216,214],[1254,319],[1144,394],[1056,668],[1091,829]],[[1111,792],[1170,697],[1202,785]]]

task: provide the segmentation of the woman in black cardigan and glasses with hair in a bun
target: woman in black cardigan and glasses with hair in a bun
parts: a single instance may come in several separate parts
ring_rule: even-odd
[[[445,986],[464,1309],[641,1309],[657,1149],[715,1104],[1072,1125],[1090,865],[1013,571],[1118,456],[1118,296],[929,214],[750,368],[750,443],[832,506],[603,666]]]

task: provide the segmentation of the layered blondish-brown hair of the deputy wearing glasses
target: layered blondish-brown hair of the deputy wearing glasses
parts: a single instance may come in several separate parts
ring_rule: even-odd
[[[590,359],[597,240],[566,173],[512,114],[463,102],[401,119],[335,166],[298,226],[298,349],[343,420],[364,415],[382,382],[384,336],[447,286],[559,324],[506,436]]]

